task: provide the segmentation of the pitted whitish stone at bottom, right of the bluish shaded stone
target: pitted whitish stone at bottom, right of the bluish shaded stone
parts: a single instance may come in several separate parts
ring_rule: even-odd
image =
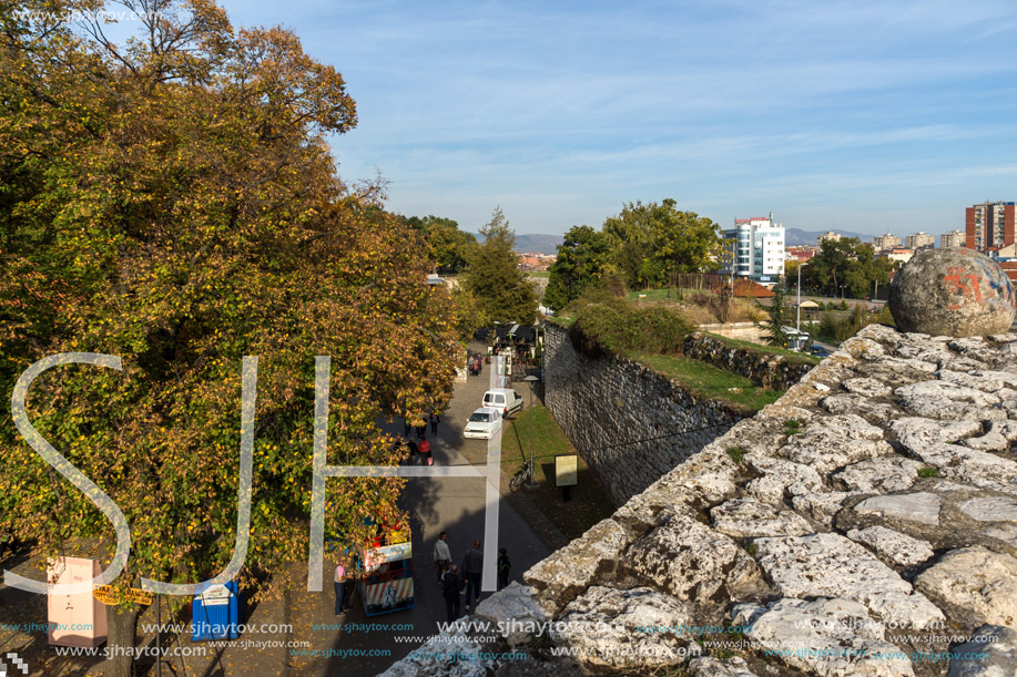
[[[580,660],[587,665],[661,667],[684,663],[692,638],[645,628],[690,625],[689,608],[654,589],[593,586],[565,607],[548,635],[558,646],[582,649]]]

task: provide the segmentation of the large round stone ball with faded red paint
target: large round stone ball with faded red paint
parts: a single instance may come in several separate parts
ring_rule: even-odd
[[[923,249],[889,285],[897,329],[933,336],[1007,334],[1014,288],[999,264],[974,249]]]

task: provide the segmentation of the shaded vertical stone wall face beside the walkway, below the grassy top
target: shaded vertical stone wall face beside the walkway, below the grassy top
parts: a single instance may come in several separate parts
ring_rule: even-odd
[[[597,471],[614,505],[647,489],[744,416],[722,402],[692,396],[639,362],[581,355],[569,330],[550,322],[543,359],[548,410]],[[637,440],[652,441],[624,443]]]

